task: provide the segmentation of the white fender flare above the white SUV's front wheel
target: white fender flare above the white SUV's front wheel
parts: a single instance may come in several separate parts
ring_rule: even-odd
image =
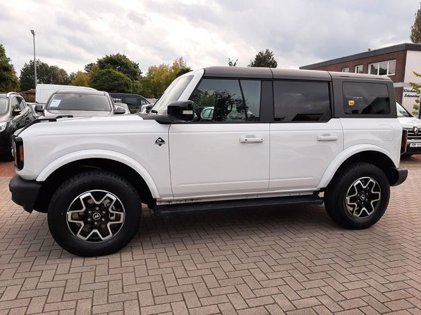
[[[108,159],[128,165],[144,179],[146,185],[148,185],[148,188],[151,191],[152,197],[159,198],[159,192],[151,174],[149,174],[149,172],[141,164],[139,164],[135,159],[132,159],[130,156],[110,150],[81,150],[60,156],[58,159],[55,159],[46,165],[40,174],[38,174],[36,181],[45,181],[55,170],[58,170],[58,168],[61,168],[68,163],[83,159]]]

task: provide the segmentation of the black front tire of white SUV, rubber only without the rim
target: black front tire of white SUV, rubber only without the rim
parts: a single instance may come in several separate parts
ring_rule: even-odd
[[[123,205],[123,223],[119,225],[119,231],[107,240],[81,240],[69,227],[67,210],[75,199],[89,191],[110,192]],[[55,191],[48,209],[49,229],[55,242],[69,253],[85,257],[119,251],[135,236],[140,221],[141,201],[135,188],[119,175],[105,171],[83,172],[71,177]]]

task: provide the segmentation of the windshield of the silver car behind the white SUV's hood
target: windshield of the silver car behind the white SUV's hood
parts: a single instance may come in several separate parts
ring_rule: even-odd
[[[51,96],[46,109],[51,111],[111,111],[111,105],[105,95],[57,93]]]

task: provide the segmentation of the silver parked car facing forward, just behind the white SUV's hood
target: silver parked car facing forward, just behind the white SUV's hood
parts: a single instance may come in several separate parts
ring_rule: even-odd
[[[36,105],[35,111],[42,113],[43,118],[107,116],[126,112],[122,107],[114,107],[110,96],[104,91],[56,91],[46,102],[45,108]]]

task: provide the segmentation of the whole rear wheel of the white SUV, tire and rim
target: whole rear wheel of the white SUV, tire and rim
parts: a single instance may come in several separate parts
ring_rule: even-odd
[[[325,191],[325,208],[334,222],[361,229],[375,224],[389,203],[386,174],[370,163],[353,163],[336,175]]]

